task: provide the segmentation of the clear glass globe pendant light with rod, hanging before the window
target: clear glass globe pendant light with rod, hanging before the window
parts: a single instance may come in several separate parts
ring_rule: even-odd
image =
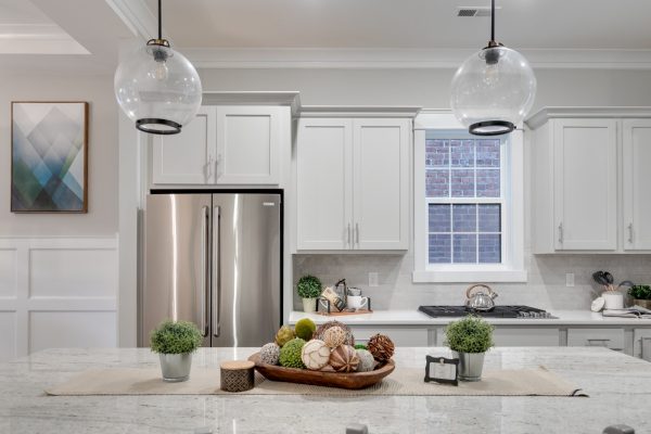
[[[524,119],[535,95],[536,76],[526,59],[495,41],[492,0],[490,41],[457,69],[451,85],[452,112],[472,135],[503,135]]]

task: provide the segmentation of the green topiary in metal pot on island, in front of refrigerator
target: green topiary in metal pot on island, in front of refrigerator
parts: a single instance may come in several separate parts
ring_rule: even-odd
[[[163,321],[152,331],[150,344],[153,353],[158,353],[163,380],[186,381],[190,378],[192,353],[201,345],[203,337],[192,322]]]

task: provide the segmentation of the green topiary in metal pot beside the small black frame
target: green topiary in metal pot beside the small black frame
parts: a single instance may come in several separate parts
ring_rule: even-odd
[[[445,336],[454,357],[459,358],[459,380],[482,380],[484,355],[493,346],[493,326],[469,315],[450,322],[445,329]]]

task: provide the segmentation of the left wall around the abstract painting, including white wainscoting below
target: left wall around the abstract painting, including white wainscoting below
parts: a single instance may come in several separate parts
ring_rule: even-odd
[[[0,361],[115,346],[117,108],[113,76],[0,73]],[[11,101],[88,101],[88,214],[12,214]]]

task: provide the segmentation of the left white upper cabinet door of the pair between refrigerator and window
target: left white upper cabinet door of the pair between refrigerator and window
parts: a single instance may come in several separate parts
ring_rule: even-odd
[[[301,119],[298,123],[298,250],[350,246],[352,142],[349,119]]]

